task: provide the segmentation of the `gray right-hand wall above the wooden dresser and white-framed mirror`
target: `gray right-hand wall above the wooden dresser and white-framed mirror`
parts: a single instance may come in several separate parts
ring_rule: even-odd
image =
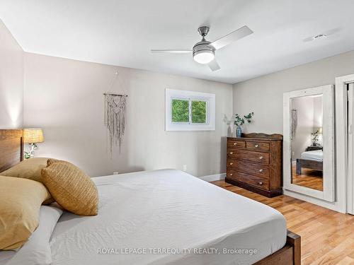
[[[255,113],[246,132],[282,134],[282,93],[334,84],[336,77],[350,73],[354,73],[354,51],[236,83],[234,113]]]

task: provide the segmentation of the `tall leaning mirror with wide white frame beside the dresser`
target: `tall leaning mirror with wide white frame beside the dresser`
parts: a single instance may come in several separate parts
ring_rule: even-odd
[[[284,93],[284,187],[334,201],[333,87]]]

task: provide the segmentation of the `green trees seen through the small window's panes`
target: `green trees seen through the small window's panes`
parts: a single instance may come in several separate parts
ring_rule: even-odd
[[[189,109],[189,105],[191,110]],[[191,119],[191,120],[190,120]],[[172,122],[207,123],[207,102],[202,100],[172,100]]]

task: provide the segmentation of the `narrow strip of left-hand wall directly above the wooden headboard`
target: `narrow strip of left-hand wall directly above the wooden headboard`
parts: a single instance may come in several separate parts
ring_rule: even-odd
[[[23,126],[23,50],[0,20],[0,129]]]

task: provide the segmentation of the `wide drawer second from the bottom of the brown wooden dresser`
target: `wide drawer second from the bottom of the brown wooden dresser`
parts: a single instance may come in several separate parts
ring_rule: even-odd
[[[253,164],[241,160],[227,160],[227,167],[238,172],[251,174],[256,177],[265,177],[269,179],[269,167],[263,164]]]

